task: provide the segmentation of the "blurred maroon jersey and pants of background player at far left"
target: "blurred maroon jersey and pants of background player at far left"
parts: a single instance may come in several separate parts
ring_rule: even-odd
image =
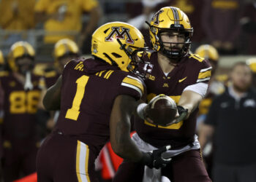
[[[31,75],[33,88],[24,90],[12,73],[1,74],[4,91],[4,118],[2,139],[4,145],[3,169],[5,181],[35,172],[37,154],[36,118],[41,90],[39,76]]]

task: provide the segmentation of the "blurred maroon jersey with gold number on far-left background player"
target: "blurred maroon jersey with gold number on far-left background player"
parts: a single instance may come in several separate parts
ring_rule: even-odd
[[[39,76],[31,74],[33,89],[24,90],[24,85],[4,71],[0,74],[1,89],[4,91],[4,139],[31,138],[36,135],[37,106],[41,90]]]

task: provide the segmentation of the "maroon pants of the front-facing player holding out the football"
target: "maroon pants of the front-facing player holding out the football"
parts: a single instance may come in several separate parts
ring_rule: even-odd
[[[143,179],[144,166],[124,161],[113,179],[113,182],[135,181]],[[186,151],[173,157],[172,162],[162,168],[165,175],[172,182],[210,182],[206,168],[203,165],[200,150]]]

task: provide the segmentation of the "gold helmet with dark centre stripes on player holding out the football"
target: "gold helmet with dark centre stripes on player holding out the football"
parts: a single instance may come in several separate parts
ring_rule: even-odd
[[[176,61],[188,54],[193,28],[190,25],[189,18],[181,11],[181,9],[178,9],[177,7],[163,7],[152,17],[151,22],[147,24],[150,27],[150,39],[154,50],[162,52],[162,54],[167,56],[167,58]],[[166,50],[163,44],[170,42],[162,41],[160,36],[160,33],[162,32],[184,34],[184,42],[171,43],[184,44],[182,49],[172,50],[172,47],[170,46],[170,50]]]

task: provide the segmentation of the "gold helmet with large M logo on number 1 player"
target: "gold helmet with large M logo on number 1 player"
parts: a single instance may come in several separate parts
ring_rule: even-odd
[[[136,72],[146,50],[142,33],[128,23],[106,23],[92,34],[91,55],[123,71]]]

